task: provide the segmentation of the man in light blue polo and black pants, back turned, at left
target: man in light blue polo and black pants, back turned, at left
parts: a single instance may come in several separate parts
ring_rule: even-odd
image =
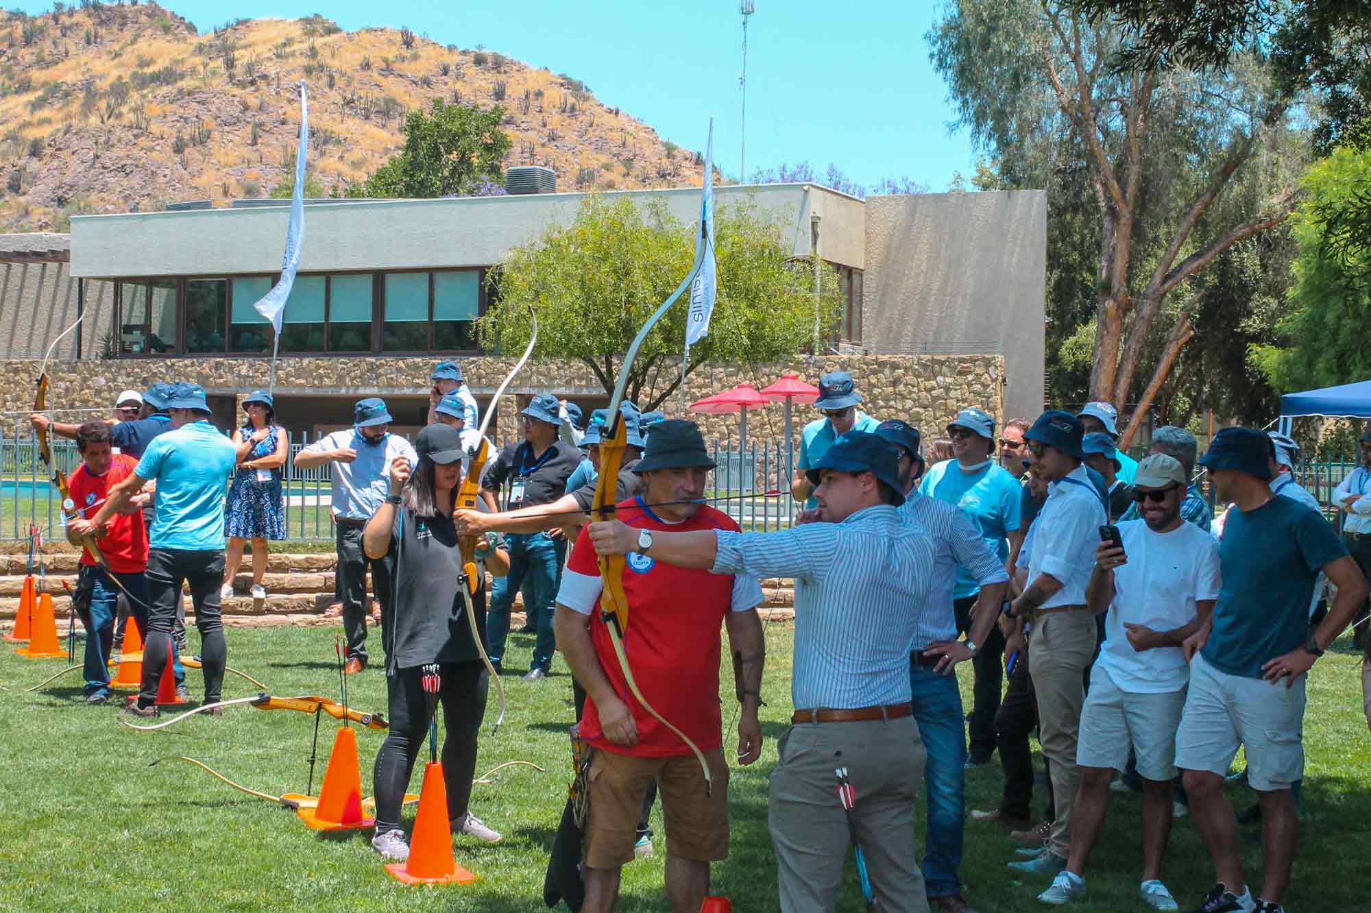
[[[189,584],[195,626],[200,629],[204,703],[219,701],[228,644],[221,621],[223,584],[223,491],[233,473],[237,448],[210,424],[204,388],[175,384],[167,407],[171,429],[143,451],[133,474],[110,489],[104,507],[89,526],[101,526],[143,487],[158,485],[156,510],[148,532],[148,632],[143,646],[143,681],[128,713],[154,717],[162,673],[171,653],[171,625],[181,605],[181,585]],[[75,522],[75,521],[74,521]],[[80,533],[81,529],[78,528]]]

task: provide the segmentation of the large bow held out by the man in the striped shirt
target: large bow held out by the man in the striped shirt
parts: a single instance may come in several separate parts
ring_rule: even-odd
[[[676,299],[690,288],[691,282],[695,280],[695,274],[699,273],[699,266],[705,259],[705,219],[701,218],[701,230],[695,236],[695,263],[691,266],[690,273],[681,280],[681,284],[676,287],[670,297],[662,302],[653,315],[643,324],[643,328],[638,330],[638,336],[633,337],[633,344],[628,347],[628,354],[624,355],[624,363],[618,369],[618,381],[614,384],[614,395],[609,400],[609,409],[605,414],[605,425],[600,426],[600,441],[599,441],[599,478],[595,481],[595,499],[591,502],[591,515],[595,520],[614,520],[614,502],[616,494],[618,491],[618,470],[624,463],[624,451],[628,447],[628,426],[624,422],[624,415],[620,406],[624,402],[624,391],[628,387],[629,369],[633,366],[633,359],[638,356],[638,350],[642,347],[643,340],[647,339],[648,332],[653,326],[670,310]],[[603,591],[600,592],[600,618],[605,626],[609,629],[610,643],[614,644],[614,655],[618,658],[618,666],[624,672],[624,681],[628,690],[638,699],[638,703],[643,706],[658,722],[676,733],[676,736],[684,742],[691,751],[695,753],[695,758],[699,761],[701,769],[705,772],[705,792],[709,794],[713,787],[713,779],[709,773],[709,764],[705,761],[705,754],[699,750],[690,736],[672,725],[662,714],[659,714],[653,705],[647,702],[643,692],[638,687],[638,681],[633,679],[633,670],[628,665],[628,653],[624,650],[624,637],[628,635],[628,596],[624,592],[624,555],[600,555],[599,559],[600,580],[603,581]]]

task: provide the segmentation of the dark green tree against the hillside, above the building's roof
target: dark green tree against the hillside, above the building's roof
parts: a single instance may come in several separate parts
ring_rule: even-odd
[[[429,112],[410,111],[404,147],[366,181],[366,196],[463,196],[487,181],[505,184],[500,162],[510,138],[500,130],[505,108],[433,99]]]

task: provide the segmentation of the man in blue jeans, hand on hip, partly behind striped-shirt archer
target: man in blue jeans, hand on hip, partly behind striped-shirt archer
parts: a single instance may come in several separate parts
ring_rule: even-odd
[[[936,550],[928,599],[914,607],[914,640],[909,646],[910,702],[928,753],[924,770],[928,796],[924,888],[928,906],[934,910],[975,913],[961,897],[961,880],[957,877],[967,817],[967,731],[956,666],[976,657],[984,646],[999,618],[1009,574],[965,511],[919,491],[919,477],[924,472],[919,429],[893,418],[882,422],[876,433],[895,448],[899,461],[899,485],[905,492],[901,518],[927,529]],[[958,568],[979,587],[965,642],[957,640],[957,613],[953,609]],[[998,657],[995,662],[999,662]]]

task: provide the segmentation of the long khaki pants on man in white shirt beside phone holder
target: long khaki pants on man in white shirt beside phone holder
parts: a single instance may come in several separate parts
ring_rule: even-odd
[[[1095,617],[1084,609],[1039,616],[1028,635],[1028,672],[1038,696],[1038,731],[1043,755],[1052,761],[1052,792],[1057,820],[1047,849],[1067,858],[1071,846],[1071,809],[1080,788],[1076,742],[1084,674],[1095,654]]]

